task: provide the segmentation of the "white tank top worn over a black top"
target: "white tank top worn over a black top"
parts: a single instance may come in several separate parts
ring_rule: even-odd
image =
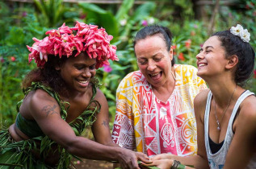
[[[240,104],[244,99],[250,95],[253,95],[254,93],[251,93],[249,90],[246,90],[246,92],[242,93],[241,96],[237,99],[237,103],[233,108],[233,112],[231,114],[231,117],[229,119],[229,125],[228,129],[225,135],[225,141],[223,145],[221,146],[220,150],[218,150],[215,154],[212,154],[212,151],[210,149],[209,145],[209,133],[208,133],[208,126],[209,126],[209,113],[210,113],[210,107],[211,107],[211,100],[212,100],[212,92],[210,91],[208,93],[208,99],[206,103],[206,109],[204,113],[204,140],[205,140],[205,147],[208,157],[208,163],[211,169],[221,169],[224,167],[226,155],[229,150],[230,143],[233,139],[233,120],[236,117],[237,109],[239,108]],[[253,158],[250,160],[250,163],[247,165],[246,168],[256,168],[256,153],[254,153]]]

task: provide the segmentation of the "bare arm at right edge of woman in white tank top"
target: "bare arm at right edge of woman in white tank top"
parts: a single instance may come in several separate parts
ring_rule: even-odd
[[[246,168],[256,153],[256,97],[247,97],[233,124],[233,140],[226,156],[225,169]]]

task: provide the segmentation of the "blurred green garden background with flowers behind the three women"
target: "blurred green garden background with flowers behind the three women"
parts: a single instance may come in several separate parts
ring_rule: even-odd
[[[89,3],[91,2],[91,3]],[[93,3],[92,3],[93,2]],[[15,122],[16,103],[23,98],[23,77],[35,63],[28,64],[27,47],[44,32],[76,20],[97,24],[114,36],[119,62],[97,71],[101,89],[109,104],[110,126],[115,118],[115,90],[128,72],[137,70],[132,39],[136,31],[150,24],[169,27],[174,35],[174,58],[178,64],[195,65],[200,45],[215,31],[240,23],[256,47],[256,0],[9,0],[0,2],[0,128]],[[247,89],[254,93],[255,73]]]

